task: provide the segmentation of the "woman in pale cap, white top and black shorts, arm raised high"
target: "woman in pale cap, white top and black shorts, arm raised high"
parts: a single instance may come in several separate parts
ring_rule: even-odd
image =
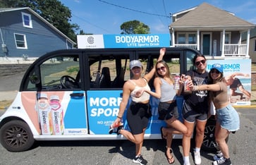
[[[163,59],[165,52],[166,48],[160,49],[158,61]],[[140,94],[138,91],[141,88],[147,88],[147,90],[150,90],[148,82],[153,77],[155,68],[152,68],[149,73],[142,77],[142,63],[138,60],[133,60],[130,61],[130,71],[133,73],[133,77],[123,85],[123,98],[119,106],[118,116],[112,126],[120,123],[128,104],[128,100],[131,97],[132,102],[127,110],[127,122],[131,132],[124,130],[123,126],[118,126],[109,130],[109,133],[121,134],[131,142],[135,143],[135,158],[133,159],[133,162],[138,164],[147,164],[147,161],[143,159],[141,155],[141,149],[145,130],[150,117],[147,113],[150,106],[150,94],[147,92]]]

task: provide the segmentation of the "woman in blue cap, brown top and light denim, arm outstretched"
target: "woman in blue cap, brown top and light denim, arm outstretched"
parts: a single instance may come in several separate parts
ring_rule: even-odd
[[[239,115],[228,102],[228,91],[223,75],[223,67],[221,64],[215,63],[209,72],[209,85],[190,86],[193,91],[209,90],[209,100],[214,103],[216,109],[215,140],[223,153],[223,157],[214,161],[212,163],[214,165],[231,164],[226,138],[240,127]]]

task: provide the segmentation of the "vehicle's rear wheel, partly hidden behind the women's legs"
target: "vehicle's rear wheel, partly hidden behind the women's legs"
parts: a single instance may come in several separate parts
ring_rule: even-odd
[[[202,149],[208,152],[217,151],[217,142],[215,141],[215,125],[216,121],[214,118],[209,118],[205,126],[205,136],[202,142]]]

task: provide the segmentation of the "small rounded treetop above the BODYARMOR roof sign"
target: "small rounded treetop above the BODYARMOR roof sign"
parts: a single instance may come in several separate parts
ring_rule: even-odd
[[[126,23],[123,23],[120,26],[122,35],[133,35],[133,34],[149,34],[150,33],[150,27],[148,25],[145,25],[144,23],[141,23],[138,20],[130,20]]]

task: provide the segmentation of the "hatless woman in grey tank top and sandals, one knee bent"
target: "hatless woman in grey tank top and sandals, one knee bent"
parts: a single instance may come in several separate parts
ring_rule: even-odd
[[[187,128],[178,120],[178,109],[176,104],[176,94],[180,95],[181,90],[174,90],[174,81],[171,78],[169,66],[165,61],[158,61],[156,66],[156,78],[154,78],[155,92],[144,89],[145,92],[159,99],[158,113],[159,120],[166,122],[166,128],[161,127],[161,137],[166,139],[166,158],[169,164],[173,164],[175,159],[172,155],[171,142],[173,134],[184,134]],[[180,83],[180,86],[183,85]],[[144,92],[143,91],[143,92]]]

